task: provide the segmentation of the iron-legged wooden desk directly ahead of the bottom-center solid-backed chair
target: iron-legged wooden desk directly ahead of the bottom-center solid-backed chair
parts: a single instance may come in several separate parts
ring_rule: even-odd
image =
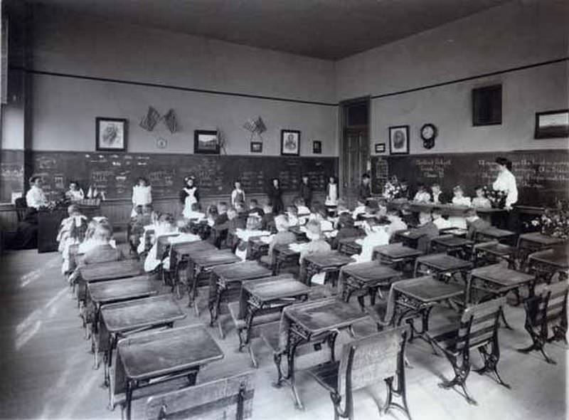
[[[297,408],[302,409],[302,401],[295,384],[294,357],[298,345],[309,342],[314,337],[325,337],[331,350],[331,359],[334,360],[334,343],[339,330],[351,328],[361,320],[368,318],[358,308],[336,298],[313,300],[307,303],[292,305],[284,310],[285,320],[288,323],[287,346],[283,355],[288,361],[287,376],[282,375],[280,361],[282,355],[275,357],[277,364],[277,386],[283,379],[288,379]]]

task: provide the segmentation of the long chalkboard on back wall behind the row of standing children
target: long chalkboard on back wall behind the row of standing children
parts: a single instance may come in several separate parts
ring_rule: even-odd
[[[154,197],[177,196],[186,175],[196,177],[203,196],[230,194],[235,179],[246,193],[266,192],[274,177],[283,191],[298,191],[302,174],[309,175],[315,191],[324,191],[337,167],[336,157],[32,152],[31,159],[33,174],[43,177],[50,198],[75,179],[83,189],[104,191],[107,199],[129,199],[137,177],[149,179]]]

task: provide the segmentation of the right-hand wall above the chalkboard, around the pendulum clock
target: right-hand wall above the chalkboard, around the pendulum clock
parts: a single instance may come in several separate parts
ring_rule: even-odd
[[[533,140],[535,112],[568,107],[566,60],[402,91],[566,58],[568,19],[566,1],[516,0],[374,48],[336,63],[338,98],[371,95],[372,153],[393,125],[410,125],[411,154],[567,148],[567,139]],[[502,125],[472,127],[471,90],[494,83]],[[427,122],[439,129],[430,150],[419,133]]]

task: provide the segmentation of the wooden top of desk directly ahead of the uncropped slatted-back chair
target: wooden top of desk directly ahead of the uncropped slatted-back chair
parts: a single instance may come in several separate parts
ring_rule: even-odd
[[[464,293],[464,286],[457,283],[444,283],[430,275],[393,283],[393,289],[399,293],[420,300],[422,303],[435,303],[455,298]]]

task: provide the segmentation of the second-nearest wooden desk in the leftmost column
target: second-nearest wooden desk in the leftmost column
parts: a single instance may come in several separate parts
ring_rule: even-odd
[[[155,327],[172,327],[175,321],[186,317],[171,295],[158,295],[103,305],[100,315],[102,317],[100,342],[105,345],[103,349],[105,350],[105,385],[109,383],[112,352],[119,337]],[[112,392],[110,392],[110,401],[111,406],[114,406]]]

